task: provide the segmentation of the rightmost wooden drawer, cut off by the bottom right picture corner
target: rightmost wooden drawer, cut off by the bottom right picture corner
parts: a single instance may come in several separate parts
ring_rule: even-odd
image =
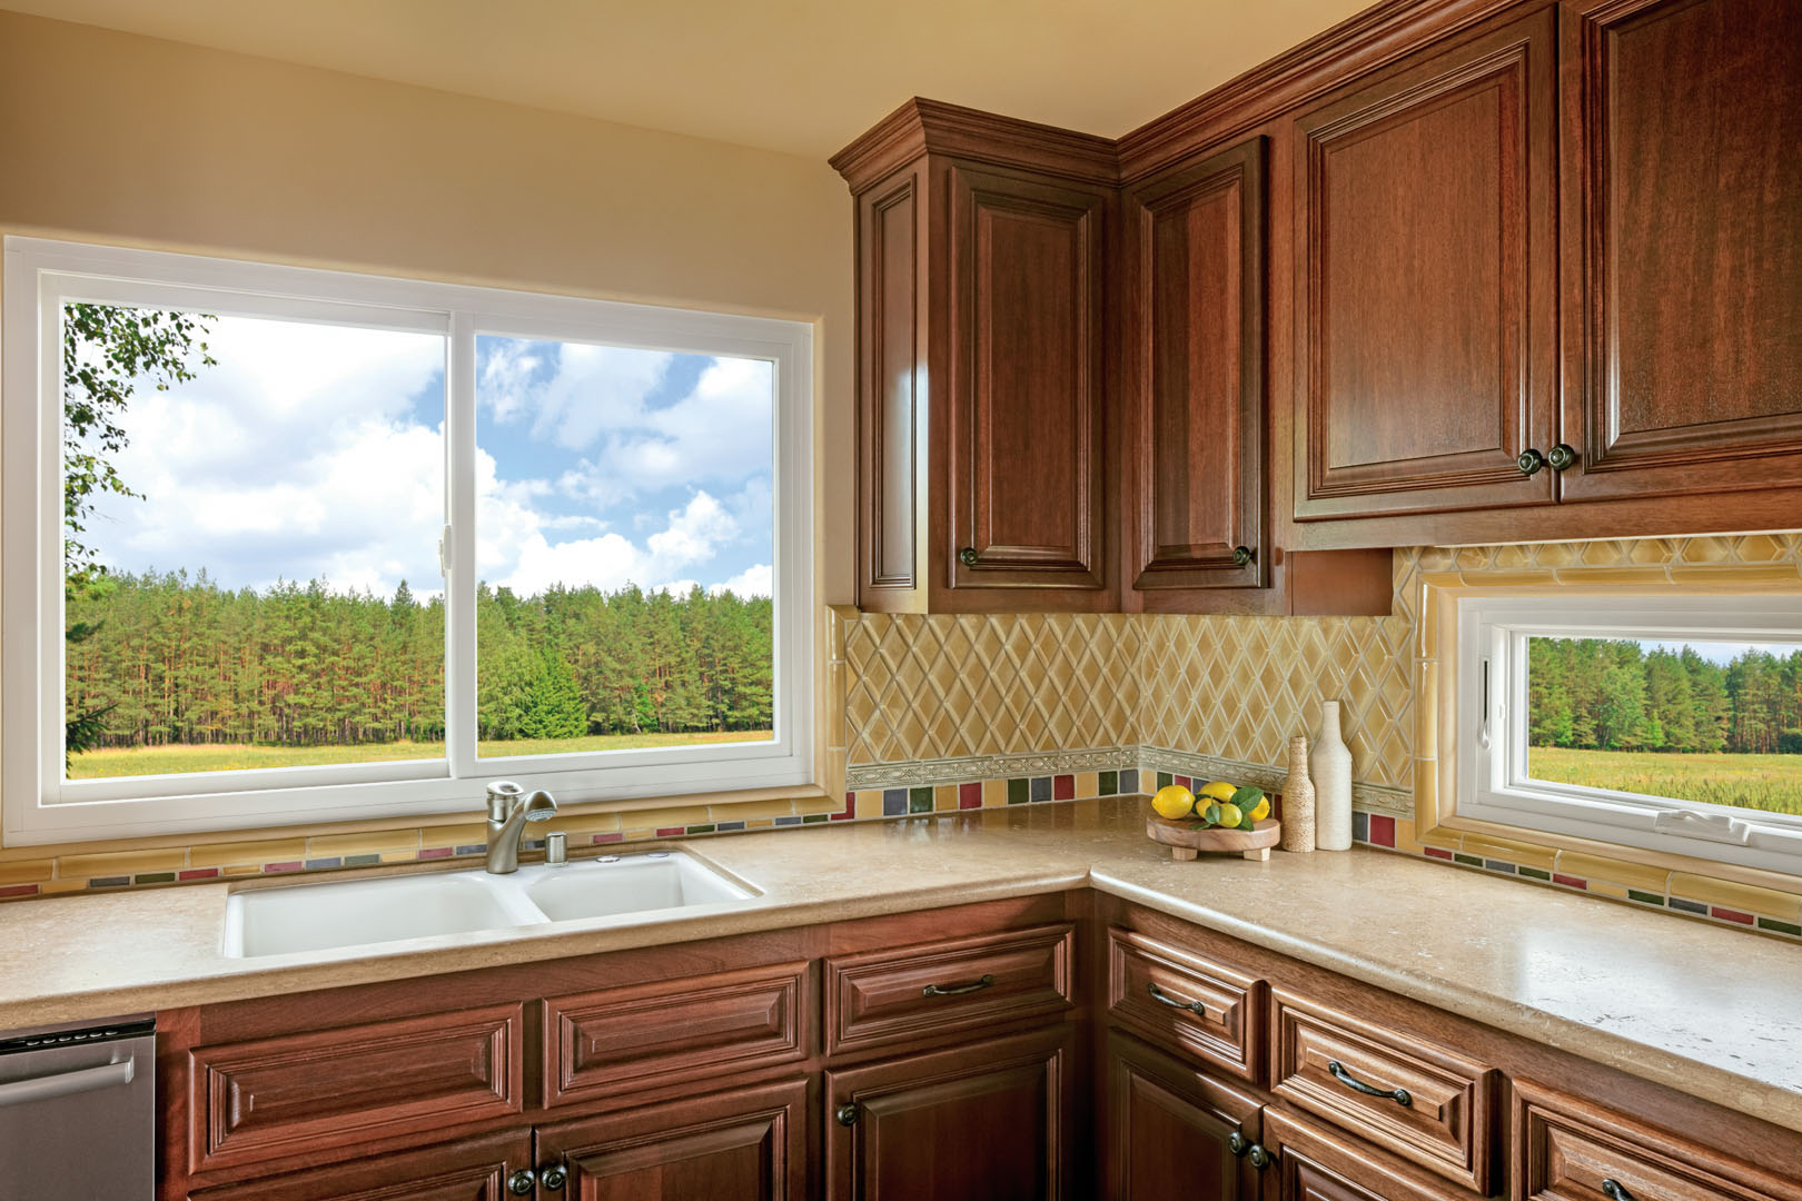
[[[1622,1201],[1797,1201],[1802,1183],[1515,1080],[1514,1201],[1595,1201],[1609,1192]]]

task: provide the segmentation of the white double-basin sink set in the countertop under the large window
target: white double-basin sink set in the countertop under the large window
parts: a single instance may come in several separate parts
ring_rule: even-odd
[[[533,864],[510,875],[478,868],[252,888],[225,900],[223,949],[229,958],[256,958],[553,922],[643,918],[751,897],[750,886],[681,852],[607,855],[557,868]]]

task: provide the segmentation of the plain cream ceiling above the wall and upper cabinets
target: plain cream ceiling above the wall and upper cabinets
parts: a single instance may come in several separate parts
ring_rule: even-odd
[[[0,0],[824,158],[910,95],[1121,135],[1368,0]]]

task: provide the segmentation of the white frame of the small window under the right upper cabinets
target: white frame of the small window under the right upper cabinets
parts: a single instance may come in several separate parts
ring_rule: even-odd
[[[1802,645],[1802,598],[1463,596],[1456,663],[1460,817],[1802,875],[1802,816],[1534,780],[1534,636]]]

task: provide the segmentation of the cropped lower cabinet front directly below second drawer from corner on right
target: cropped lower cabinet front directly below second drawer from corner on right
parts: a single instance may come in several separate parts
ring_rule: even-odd
[[[1263,1111],[1263,1147],[1270,1154],[1267,1201],[1472,1201],[1467,1192],[1283,1109]]]

